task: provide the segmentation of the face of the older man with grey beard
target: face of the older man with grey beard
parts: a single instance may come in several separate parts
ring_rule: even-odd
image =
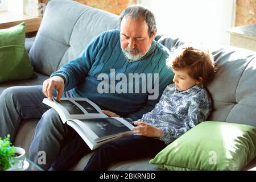
[[[155,34],[148,35],[146,21],[124,17],[120,25],[121,48],[130,60],[141,59],[151,47]]]

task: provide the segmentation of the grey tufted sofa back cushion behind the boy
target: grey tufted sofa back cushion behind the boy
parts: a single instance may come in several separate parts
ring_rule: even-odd
[[[168,49],[184,44],[179,38],[158,38]],[[207,85],[213,100],[210,121],[256,126],[256,52],[232,46],[209,47],[218,63]]]

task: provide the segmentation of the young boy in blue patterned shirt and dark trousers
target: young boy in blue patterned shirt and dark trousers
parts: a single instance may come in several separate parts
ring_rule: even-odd
[[[154,157],[186,131],[205,121],[210,114],[211,102],[204,85],[216,65],[209,51],[193,47],[176,49],[167,66],[172,68],[174,84],[168,85],[155,108],[134,122],[134,135],[97,148],[84,170],[106,170],[113,163],[124,160]],[[110,117],[118,117],[104,111]],[[77,138],[59,156],[50,170],[69,169],[90,149]]]

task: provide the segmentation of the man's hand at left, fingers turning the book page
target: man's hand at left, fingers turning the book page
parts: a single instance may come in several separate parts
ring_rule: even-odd
[[[64,92],[64,79],[60,76],[53,76],[43,82],[43,93],[49,100],[52,100],[53,88],[57,91],[57,101],[60,102],[60,97]]]

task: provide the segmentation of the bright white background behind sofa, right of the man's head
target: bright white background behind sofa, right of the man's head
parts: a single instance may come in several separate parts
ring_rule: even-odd
[[[158,34],[205,44],[229,44],[235,0],[141,0],[156,15]]]

